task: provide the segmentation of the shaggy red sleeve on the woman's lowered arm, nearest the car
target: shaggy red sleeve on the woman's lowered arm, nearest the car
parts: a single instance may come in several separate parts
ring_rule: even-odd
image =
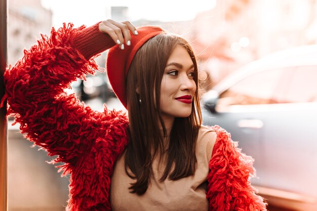
[[[212,129],[217,133],[217,140],[209,162],[209,210],[266,210],[266,203],[250,183],[250,178],[255,177],[253,158],[243,154],[237,142],[220,126]]]

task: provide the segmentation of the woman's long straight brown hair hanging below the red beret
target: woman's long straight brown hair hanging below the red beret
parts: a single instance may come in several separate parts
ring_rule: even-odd
[[[202,120],[196,58],[184,38],[174,34],[159,34],[149,39],[138,50],[127,76],[131,139],[127,147],[125,169],[130,178],[136,179],[136,182],[131,184],[131,192],[139,195],[145,193],[148,188],[152,175],[152,161],[158,151],[163,152],[164,138],[168,135],[160,114],[160,90],[167,61],[177,45],[184,47],[191,57],[197,89],[191,114],[174,120],[169,134],[167,164],[160,181],[188,177],[193,175],[196,169],[195,145]],[[139,88],[138,93],[136,88]],[[128,172],[128,168],[132,174]]]

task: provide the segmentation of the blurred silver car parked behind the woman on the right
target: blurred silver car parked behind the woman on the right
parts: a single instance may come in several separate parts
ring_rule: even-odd
[[[251,62],[202,100],[204,124],[255,159],[252,184],[269,204],[317,210],[317,45]]]

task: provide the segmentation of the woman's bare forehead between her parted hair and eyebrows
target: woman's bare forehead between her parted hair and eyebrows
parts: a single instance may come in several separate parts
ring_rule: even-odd
[[[177,45],[175,47],[175,49],[172,51],[171,56],[169,57],[167,63],[172,63],[172,62],[176,62],[176,63],[180,63],[182,65],[189,65],[191,66],[193,64],[189,53],[187,52],[187,50],[185,49],[185,47]]]

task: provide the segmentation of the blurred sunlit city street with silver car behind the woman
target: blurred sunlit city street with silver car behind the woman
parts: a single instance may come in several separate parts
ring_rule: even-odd
[[[220,125],[255,159],[259,178],[252,184],[269,197],[268,210],[317,210],[317,0],[162,0],[155,10],[144,11],[151,4],[10,0],[8,65],[64,22],[79,27],[129,20],[179,34],[206,75],[199,78],[203,123]],[[96,111],[106,104],[126,112],[110,86],[106,59],[104,51],[95,58],[101,71],[77,78],[65,91]],[[65,210],[69,176],[61,177],[47,163],[53,158],[32,147],[11,123],[9,118],[9,211]]]

